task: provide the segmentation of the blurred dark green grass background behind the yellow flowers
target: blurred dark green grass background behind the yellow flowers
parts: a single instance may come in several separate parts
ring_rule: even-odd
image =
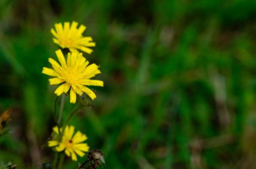
[[[1,164],[53,162],[56,87],[41,71],[58,48],[51,27],[78,21],[104,87],[71,124],[104,168],[254,168],[255,15],[249,0],[1,0],[0,112],[13,109]],[[73,107],[66,97],[64,117]]]

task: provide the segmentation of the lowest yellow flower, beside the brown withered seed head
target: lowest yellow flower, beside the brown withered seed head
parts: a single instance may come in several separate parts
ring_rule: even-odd
[[[60,129],[61,131],[62,129]],[[63,137],[61,141],[58,140],[50,140],[48,142],[49,147],[55,147],[57,152],[62,152],[65,150],[65,154],[67,156],[71,156],[71,159],[77,161],[77,156],[83,157],[85,154],[84,152],[89,151],[89,147],[87,144],[82,142],[86,141],[87,137],[85,134],[77,131],[74,135],[75,127],[73,125],[66,126],[65,131],[63,133]],[[59,135],[59,129],[57,126],[53,127],[53,131]]]

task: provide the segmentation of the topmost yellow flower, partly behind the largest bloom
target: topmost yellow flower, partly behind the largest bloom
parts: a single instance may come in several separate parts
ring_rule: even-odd
[[[53,42],[55,44],[59,44],[61,48],[69,48],[70,52],[78,52],[78,50],[82,50],[88,54],[92,53],[92,49],[88,47],[95,46],[95,43],[92,42],[92,37],[90,36],[82,36],[83,32],[86,30],[85,25],[80,25],[77,29],[77,22],[73,21],[70,25],[69,22],[65,22],[64,26],[62,23],[56,23],[55,29],[52,28],[51,33],[55,38],[53,38]]]

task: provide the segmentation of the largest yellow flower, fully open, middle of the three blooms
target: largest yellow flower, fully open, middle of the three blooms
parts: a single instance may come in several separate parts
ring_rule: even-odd
[[[89,64],[88,60],[84,58],[82,53],[68,53],[67,62],[61,50],[56,52],[57,58],[61,65],[49,58],[52,68],[42,68],[42,73],[54,78],[50,78],[50,84],[60,84],[56,89],[56,95],[67,93],[70,91],[70,103],[76,102],[76,93],[81,96],[86,93],[92,100],[96,98],[95,93],[86,86],[103,87],[101,80],[91,80],[96,74],[100,73],[99,66],[96,64]]]

